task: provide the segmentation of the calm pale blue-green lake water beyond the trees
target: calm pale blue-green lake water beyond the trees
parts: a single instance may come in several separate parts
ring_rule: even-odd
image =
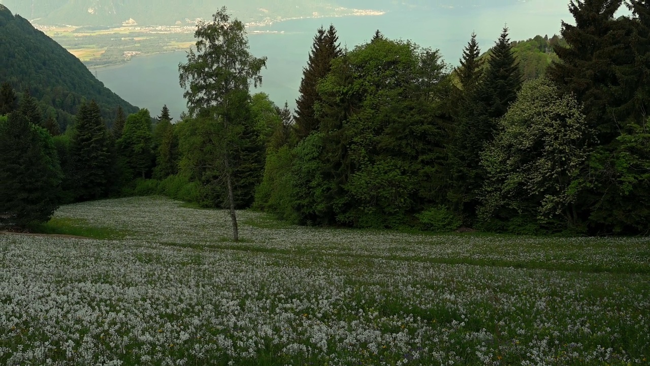
[[[262,72],[263,85],[251,92],[266,92],[279,106],[288,101],[294,107],[302,68],[320,25],[333,23],[341,45],[349,49],[366,42],[379,29],[391,39],[412,40],[423,47],[440,49],[445,61],[456,66],[473,31],[482,50],[494,44],[506,24],[512,40],[559,33],[561,20],[573,20],[566,3],[527,1],[498,7],[399,10],[383,16],[283,21],[263,28],[283,33],[248,36],[253,55],[268,57]],[[172,115],[177,116],[186,110],[178,81],[178,64],[186,61],[185,55],[185,51],[179,51],[135,57],[127,64],[92,71],[109,89],[135,106],[148,108],[151,115],[158,115],[162,105],[167,104]]]

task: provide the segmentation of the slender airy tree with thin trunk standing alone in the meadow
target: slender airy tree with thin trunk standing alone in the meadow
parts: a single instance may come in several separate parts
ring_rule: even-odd
[[[255,86],[261,83],[260,72],[266,65],[266,57],[250,54],[244,24],[231,20],[225,7],[214,14],[211,22],[198,23],[194,37],[196,51],[190,49],[187,63],[179,64],[179,79],[181,87],[186,89],[183,95],[190,114],[198,117],[197,123],[204,122],[196,132],[211,132],[209,135],[214,138],[194,136],[202,140],[198,142],[205,143],[195,146],[205,149],[200,160],[208,160],[209,165],[192,162],[192,154],[188,161],[202,170],[204,182],[207,179],[212,184],[225,184],[233,240],[238,241],[235,186],[248,181],[254,166],[250,162],[255,160],[246,156],[255,154],[251,151],[254,150],[252,142],[246,141],[255,139],[250,134],[254,129],[248,119],[249,87],[251,81]]]

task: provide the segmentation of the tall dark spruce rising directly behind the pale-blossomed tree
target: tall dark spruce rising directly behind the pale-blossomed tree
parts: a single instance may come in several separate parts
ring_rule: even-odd
[[[563,92],[575,94],[584,107],[592,128],[598,132],[601,144],[608,144],[618,134],[617,121],[608,113],[616,107],[608,95],[611,85],[618,85],[614,64],[617,55],[624,51],[625,36],[621,21],[614,14],[623,0],[572,0],[569,12],[575,25],[562,22],[562,36],[567,46],[554,44],[553,50],[560,58],[547,73]]]

